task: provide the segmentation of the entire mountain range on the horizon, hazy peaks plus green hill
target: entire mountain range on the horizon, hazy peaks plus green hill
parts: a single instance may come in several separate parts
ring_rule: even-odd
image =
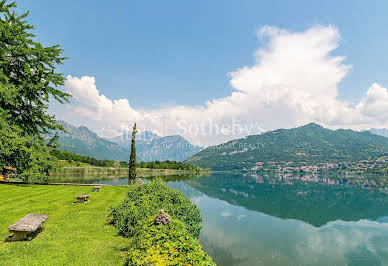
[[[68,133],[58,132],[60,150],[97,159],[127,161],[130,133],[104,139],[85,126],[59,121]],[[52,133],[53,134],[53,133]],[[384,136],[384,137],[383,137]],[[330,130],[310,123],[292,129],[278,129],[247,136],[203,149],[179,135],[138,133],[138,161],[184,161],[213,170],[250,169],[257,162],[339,162],[376,159],[387,155],[388,130]]]

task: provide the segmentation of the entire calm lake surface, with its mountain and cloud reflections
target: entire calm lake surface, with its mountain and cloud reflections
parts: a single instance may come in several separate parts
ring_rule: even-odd
[[[80,180],[72,182],[127,183]],[[166,180],[201,209],[200,241],[219,265],[388,265],[385,189],[308,176]]]

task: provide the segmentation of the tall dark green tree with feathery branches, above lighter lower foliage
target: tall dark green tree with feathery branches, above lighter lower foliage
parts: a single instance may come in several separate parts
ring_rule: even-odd
[[[0,83],[6,88],[0,108],[28,135],[61,129],[47,109],[50,98],[64,103],[70,96],[57,89],[64,84],[63,75],[55,71],[65,59],[63,50],[34,41],[34,26],[25,20],[28,12],[18,16],[15,8],[15,2],[0,2]],[[16,97],[10,100],[10,94]]]

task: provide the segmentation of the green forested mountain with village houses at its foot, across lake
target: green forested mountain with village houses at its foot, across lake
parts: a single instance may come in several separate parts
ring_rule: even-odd
[[[250,169],[257,162],[352,162],[388,154],[388,138],[370,132],[330,130],[310,123],[208,147],[187,160],[212,170]]]

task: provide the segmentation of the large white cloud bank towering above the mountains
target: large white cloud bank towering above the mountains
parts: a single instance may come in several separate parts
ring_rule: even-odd
[[[255,52],[255,63],[229,73],[235,91],[228,97],[201,106],[135,110],[127,99],[102,95],[94,77],[69,75],[65,85],[78,102],[70,109],[109,134],[137,121],[141,128],[180,134],[202,145],[311,121],[355,129],[388,124],[388,92],[380,85],[373,84],[356,104],[337,98],[350,66],[344,57],[332,55],[340,41],[335,27],[290,32],[265,26],[258,38],[264,45]],[[99,133],[107,134],[104,130]]]

